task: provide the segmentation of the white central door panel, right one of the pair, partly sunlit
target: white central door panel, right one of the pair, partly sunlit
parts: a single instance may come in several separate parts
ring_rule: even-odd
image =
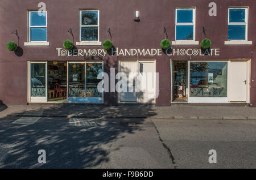
[[[138,102],[155,103],[155,68],[155,61],[139,61],[140,92],[137,93]]]

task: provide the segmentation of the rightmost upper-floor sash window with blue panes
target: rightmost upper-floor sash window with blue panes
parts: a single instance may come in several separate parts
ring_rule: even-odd
[[[229,8],[228,40],[247,40],[247,8]]]

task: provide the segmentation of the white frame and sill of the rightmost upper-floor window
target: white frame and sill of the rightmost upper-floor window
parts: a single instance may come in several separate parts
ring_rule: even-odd
[[[245,22],[229,22],[229,10],[245,10]],[[252,45],[252,41],[248,41],[248,7],[229,7],[228,8],[228,25],[245,25],[245,40],[228,40],[225,45]]]

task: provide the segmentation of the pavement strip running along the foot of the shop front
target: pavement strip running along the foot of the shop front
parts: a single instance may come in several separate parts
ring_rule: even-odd
[[[1,109],[1,108],[0,108]],[[1,111],[1,110],[0,110]],[[243,105],[103,106],[75,104],[9,105],[0,117],[80,117],[256,120],[256,107]]]

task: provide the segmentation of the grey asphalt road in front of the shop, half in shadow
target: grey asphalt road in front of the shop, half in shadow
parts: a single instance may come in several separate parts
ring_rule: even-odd
[[[0,118],[0,168],[256,168],[256,121],[19,118]]]

